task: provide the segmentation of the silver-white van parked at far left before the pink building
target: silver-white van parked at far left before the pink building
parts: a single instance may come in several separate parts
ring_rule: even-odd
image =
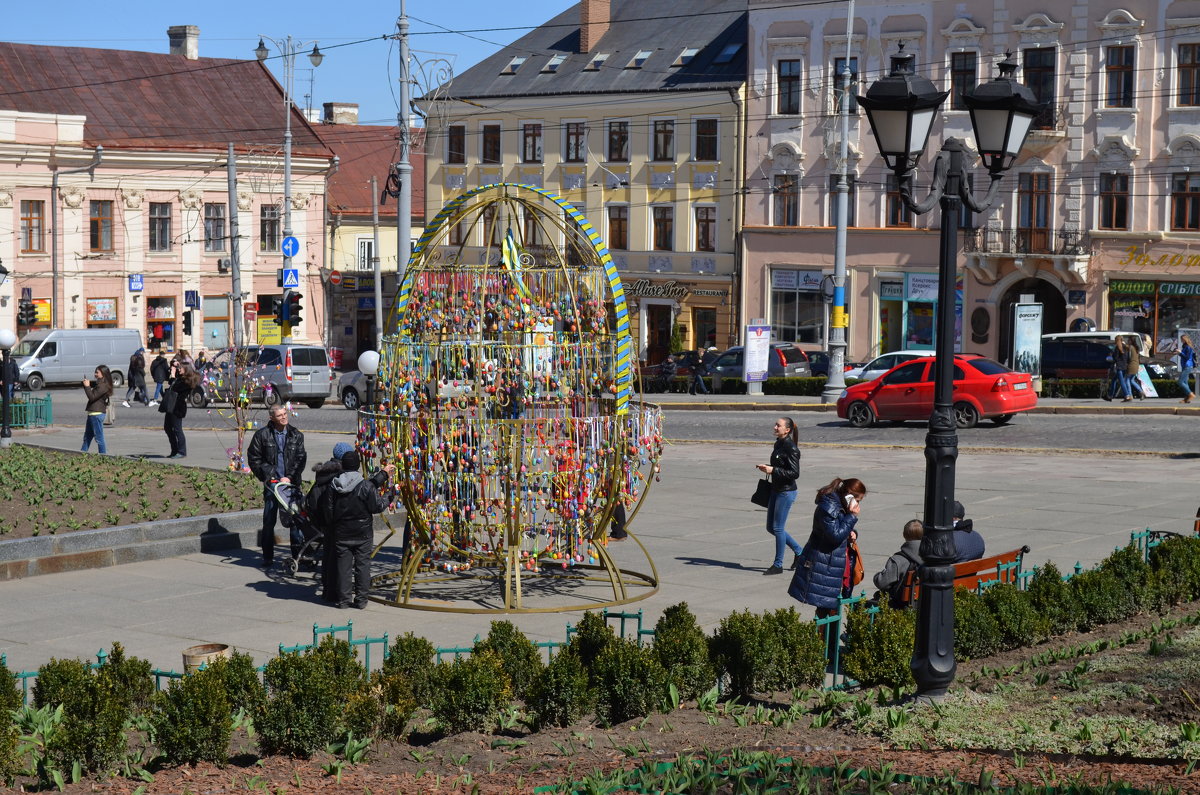
[[[108,365],[113,383],[125,383],[130,357],[142,347],[137,329],[42,329],[30,331],[12,349],[20,382],[30,389],[52,383],[79,383]]]

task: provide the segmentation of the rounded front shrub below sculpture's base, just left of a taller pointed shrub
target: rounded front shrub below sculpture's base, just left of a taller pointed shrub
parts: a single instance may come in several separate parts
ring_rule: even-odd
[[[593,664],[596,717],[611,727],[658,710],[668,694],[667,673],[653,648],[618,638]]]

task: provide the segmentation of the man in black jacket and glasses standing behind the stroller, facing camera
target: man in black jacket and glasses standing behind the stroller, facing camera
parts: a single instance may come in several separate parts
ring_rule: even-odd
[[[275,562],[275,521],[280,502],[275,498],[275,483],[292,483],[299,489],[308,454],[304,449],[304,434],[290,425],[287,406],[271,406],[270,423],[258,429],[246,450],[246,464],[263,483],[263,530],[258,544],[263,549],[263,568]],[[292,555],[304,546],[300,530],[292,527]]]

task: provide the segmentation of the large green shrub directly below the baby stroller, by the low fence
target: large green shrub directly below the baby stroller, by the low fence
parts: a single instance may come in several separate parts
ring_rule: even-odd
[[[254,715],[262,753],[307,758],[338,735],[343,703],[323,660],[280,654],[263,669],[263,683],[266,698]]]

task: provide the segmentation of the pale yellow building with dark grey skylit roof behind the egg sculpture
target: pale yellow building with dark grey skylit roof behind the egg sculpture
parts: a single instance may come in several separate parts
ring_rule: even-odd
[[[502,181],[575,204],[620,270],[648,363],[673,328],[683,347],[724,348],[740,323],[745,2],[689,7],[584,0],[455,77],[430,113],[428,216]]]

